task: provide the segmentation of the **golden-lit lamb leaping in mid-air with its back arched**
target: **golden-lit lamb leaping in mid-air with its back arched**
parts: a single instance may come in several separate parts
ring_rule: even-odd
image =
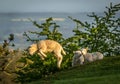
[[[42,60],[47,57],[45,53],[53,52],[54,56],[57,58],[58,68],[60,68],[62,63],[62,54],[66,55],[66,52],[63,50],[62,46],[58,42],[53,40],[41,40],[38,43],[32,44],[30,45],[28,52],[30,55],[37,53]]]

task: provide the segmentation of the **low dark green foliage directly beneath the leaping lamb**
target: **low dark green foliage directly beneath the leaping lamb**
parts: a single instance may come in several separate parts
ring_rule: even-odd
[[[29,61],[26,59],[29,59]],[[53,74],[58,70],[56,67],[56,60],[51,57],[51,54],[49,54],[48,58],[46,58],[44,62],[36,54],[33,56],[27,55],[27,57],[20,59],[19,62],[24,62],[26,64],[29,63],[28,66],[23,67],[16,72],[19,74],[17,81],[20,81],[21,83],[47,77],[48,75]]]

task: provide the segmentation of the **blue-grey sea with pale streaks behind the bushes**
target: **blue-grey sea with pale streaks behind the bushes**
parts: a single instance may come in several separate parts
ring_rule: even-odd
[[[74,35],[72,30],[76,27],[76,23],[68,16],[82,22],[92,22],[93,18],[88,17],[88,14],[91,13],[0,13],[0,43],[2,44],[4,40],[8,39],[9,34],[14,34],[14,48],[27,48],[31,42],[26,41],[26,37],[23,36],[24,32],[40,31],[29,19],[41,24],[50,17],[60,26],[58,31],[63,34],[63,37],[68,38]],[[102,13],[97,14],[102,15]],[[31,36],[31,38],[34,37]]]

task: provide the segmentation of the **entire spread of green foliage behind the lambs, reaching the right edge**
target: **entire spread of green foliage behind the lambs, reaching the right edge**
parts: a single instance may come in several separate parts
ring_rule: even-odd
[[[92,23],[82,22],[69,17],[76,23],[76,27],[73,30],[75,34],[70,38],[63,37],[58,31],[60,26],[53,21],[52,17],[46,19],[41,24],[30,19],[38,31],[24,32],[24,36],[27,38],[27,41],[32,42],[37,42],[41,39],[51,39],[59,42],[67,53],[63,57],[61,70],[71,67],[73,51],[81,47],[89,47],[91,52],[100,51],[106,56],[118,55],[120,54],[120,18],[116,18],[115,15],[120,10],[120,4],[113,6],[111,3],[110,7],[106,8],[108,10],[104,12],[103,16],[98,16],[95,13],[88,15],[94,18]],[[35,35],[37,38],[34,39],[29,34]],[[19,75],[18,81],[22,83],[46,77],[59,71],[53,54],[47,53],[48,57],[44,61],[37,54],[30,56],[26,53],[26,55],[27,57],[22,58],[20,61],[27,64],[27,59],[29,59],[33,63],[16,72]]]

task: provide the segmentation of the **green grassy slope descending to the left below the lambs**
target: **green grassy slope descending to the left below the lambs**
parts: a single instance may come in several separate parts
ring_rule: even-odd
[[[105,57],[29,84],[120,84],[120,56]]]

